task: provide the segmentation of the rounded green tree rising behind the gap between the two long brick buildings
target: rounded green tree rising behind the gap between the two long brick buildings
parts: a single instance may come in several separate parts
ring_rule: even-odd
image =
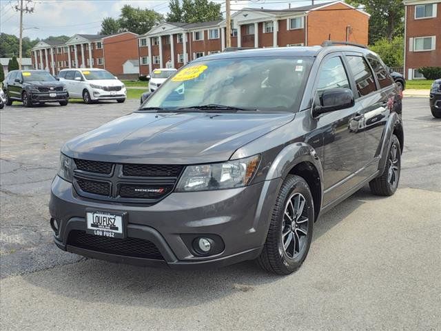
[[[137,34],[149,31],[162,21],[164,21],[162,14],[150,9],[134,8],[130,5],[124,5],[118,19],[122,31]]]

